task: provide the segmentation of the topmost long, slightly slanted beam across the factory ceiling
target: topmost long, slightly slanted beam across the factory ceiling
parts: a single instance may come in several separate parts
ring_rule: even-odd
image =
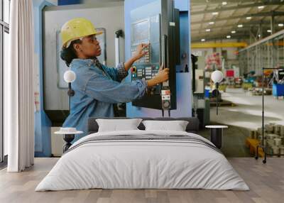
[[[204,11],[192,11],[191,15],[199,15],[203,13],[212,13],[212,12],[222,12],[222,11],[231,11],[231,10],[237,10],[237,9],[246,9],[256,6],[273,6],[273,5],[283,5],[283,2],[280,1],[273,1],[273,2],[263,2],[263,3],[253,3],[253,4],[243,4],[243,5],[237,5],[237,6],[223,6],[219,9],[208,9]]]

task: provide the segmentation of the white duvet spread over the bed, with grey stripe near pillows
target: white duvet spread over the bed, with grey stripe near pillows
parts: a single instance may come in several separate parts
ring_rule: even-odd
[[[72,146],[92,136],[145,133],[207,141],[180,131],[116,131],[90,134]],[[183,141],[106,141],[70,150],[35,191],[91,188],[249,190],[224,155],[207,146]]]

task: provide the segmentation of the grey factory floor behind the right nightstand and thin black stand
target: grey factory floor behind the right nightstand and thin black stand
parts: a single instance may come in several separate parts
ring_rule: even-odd
[[[210,109],[210,124],[229,126],[224,130],[222,152],[226,157],[250,157],[246,148],[246,138],[250,129],[261,128],[262,97],[251,96],[243,89],[226,89],[222,99],[233,105],[219,106]],[[284,100],[265,96],[265,124],[273,122],[284,125]],[[202,129],[200,135],[209,138],[209,129]]]

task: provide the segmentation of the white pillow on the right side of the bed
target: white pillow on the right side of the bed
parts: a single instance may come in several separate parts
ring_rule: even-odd
[[[146,131],[185,131],[188,121],[142,121]]]

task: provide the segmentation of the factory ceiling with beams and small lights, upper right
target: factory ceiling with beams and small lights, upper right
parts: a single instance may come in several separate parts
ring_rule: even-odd
[[[284,0],[191,0],[190,12],[192,42],[230,38],[253,43],[284,29]]]

